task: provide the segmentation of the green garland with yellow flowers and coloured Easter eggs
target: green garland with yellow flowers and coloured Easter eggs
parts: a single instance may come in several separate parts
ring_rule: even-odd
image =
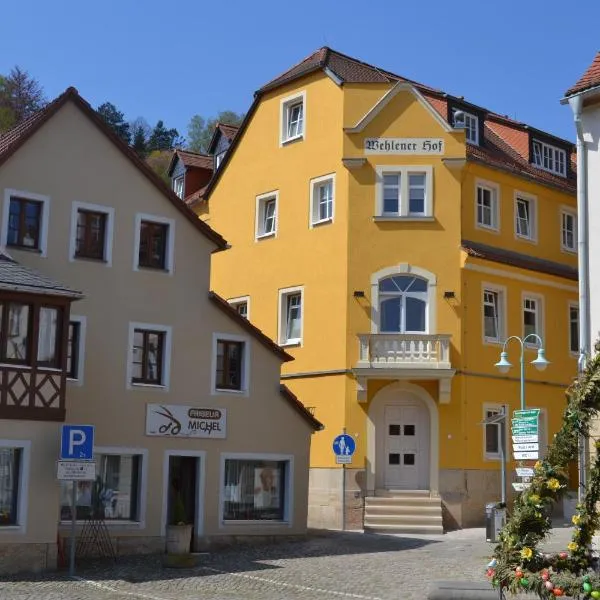
[[[487,576],[502,591],[529,592],[544,599],[600,599],[600,573],[592,556],[592,536],[600,525],[600,452],[595,453],[585,497],[572,519],[571,542],[557,554],[538,548],[550,533],[552,506],[566,489],[568,464],[577,458],[578,436],[588,435],[600,410],[600,353],[589,360],[567,397],[562,427],[546,457],[535,464],[531,486],[516,498]],[[596,448],[600,449],[600,442]]]

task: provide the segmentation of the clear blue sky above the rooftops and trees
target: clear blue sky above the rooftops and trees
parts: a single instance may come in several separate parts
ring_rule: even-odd
[[[1,19],[0,73],[184,135],[327,45],[574,139],[559,100],[600,50],[598,0],[30,0]]]

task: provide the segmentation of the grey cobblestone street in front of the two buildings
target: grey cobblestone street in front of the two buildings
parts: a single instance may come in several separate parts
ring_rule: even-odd
[[[564,548],[557,528],[546,547]],[[493,544],[482,529],[443,536],[312,535],[299,542],[239,546],[203,556],[193,569],[166,569],[159,557],[121,559],[65,574],[0,581],[10,600],[413,600],[436,580],[480,580]]]

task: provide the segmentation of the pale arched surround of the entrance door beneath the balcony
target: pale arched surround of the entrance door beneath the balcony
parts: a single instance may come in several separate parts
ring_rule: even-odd
[[[429,415],[429,489],[439,493],[439,414],[435,400],[422,387],[405,381],[385,386],[371,400],[367,417],[367,490],[383,487],[383,473],[377,473],[377,429],[385,436],[385,407],[406,404],[406,395],[415,396],[427,407]],[[381,441],[381,440],[380,440]],[[379,484],[379,485],[378,485]]]

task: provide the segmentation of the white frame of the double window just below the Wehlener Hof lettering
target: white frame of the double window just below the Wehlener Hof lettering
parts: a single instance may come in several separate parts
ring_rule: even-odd
[[[376,221],[396,221],[396,220],[431,220],[433,219],[433,167],[431,165],[377,165],[376,186],[375,186],[375,220]],[[425,212],[409,212],[409,187],[408,176],[415,174],[425,175]],[[400,175],[400,198],[398,214],[383,212],[383,176]]]

